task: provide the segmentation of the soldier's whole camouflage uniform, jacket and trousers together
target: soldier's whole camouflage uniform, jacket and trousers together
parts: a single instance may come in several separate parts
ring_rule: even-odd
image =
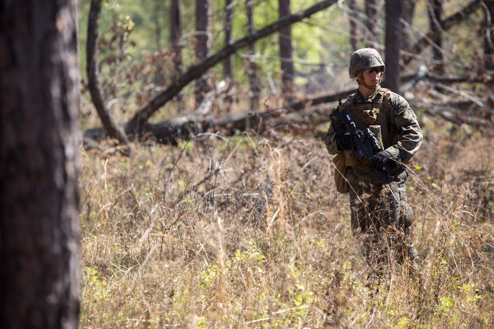
[[[366,65],[364,63],[364,68]],[[352,66],[350,66],[350,76],[352,77]],[[382,98],[380,111],[376,106],[376,103],[379,103],[376,99],[379,98]],[[382,244],[382,233],[391,229],[394,233],[398,233],[398,235],[394,234],[394,250],[399,255],[405,255],[406,251],[410,252],[413,222],[412,209],[405,196],[405,181],[408,177],[406,164],[411,161],[413,154],[422,143],[422,132],[417,117],[403,97],[392,93],[389,89],[380,88],[379,85],[368,99],[362,98],[357,92],[349,96],[342,106],[347,108],[358,129],[363,130],[371,125],[380,126],[381,145],[392,156],[392,160],[388,163],[388,175],[391,177],[388,187],[388,185],[383,186],[367,158],[360,160],[352,151],[346,151],[353,155],[351,163],[346,164],[348,167],[345,174],[350,186],[352,233],[366,242],[365,245],[368,247],[366,256],[369,257],[371,246]],[[340,106],[337,106],[333,111],[339,108]],[[334,136],[337,131],[346,129],[335,115],[331,116],[325,138],[326,148],[330,154],[341,152]],[[392,196],[390,189],[398,202]],[[397,236],[399,238],[396,238]],[[389,242],[384,244],[389,245]]]

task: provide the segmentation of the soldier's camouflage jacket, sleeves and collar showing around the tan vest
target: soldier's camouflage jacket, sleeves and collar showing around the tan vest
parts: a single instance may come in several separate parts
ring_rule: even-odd
[[[368,99],[362,98],[357,92],[351,104],[362,105],[371,103],[376,98],[379,89],[380,87]],[[418,125],[417,116],[408,102],[398,94],[390,92],[388,95],[387,99],[384,99],[383,102],[389,102],[390,111],[388,122],[395,128],[393,129],[394,136],[389,136],[389,138],[395,142],[391,146],[386,147],[385,150],[393,156],[394,160],[408,163],[422,144],[422,131]],[[333,111],[338,110],[338,108],[339,106],[336,106]],[[334,141],[334,134],[338,130],[346,130],[346,128],[341,121],[331,116],[330,126],[325,138],[325,144],[329,154],[340,152]]]

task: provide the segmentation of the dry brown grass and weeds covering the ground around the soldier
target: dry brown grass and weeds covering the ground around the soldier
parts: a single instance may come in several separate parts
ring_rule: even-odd
[[[418,269],[371,283],[320,138],[83,152],[80,327],[492,328],[493,142],[443,131],[409,180]]]

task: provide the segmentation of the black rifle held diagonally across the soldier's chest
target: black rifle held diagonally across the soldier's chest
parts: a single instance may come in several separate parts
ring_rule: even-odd
[[[339,105],[341,104],[341,97],[338,97]],[[353,151],[359,159],[368,158],[369,161],[374,157],[374,152],[377,153],[382,150],[379,141],[375,137],[371,129],[366,128],[364,131],[357,129],[355,122],[352,120],[350,113],[346,108],[343,110],[334,110],[333,113],[336,114],[338,119],[340,119],[346,126],[348,132],[353,136]],[[386,185],[391,192],[391,195],[398,203],[396,195],[393,193],[388,180],[388,168],[384,164],[381,168],[372,168],[377,177],[381,180],[383,185]]]

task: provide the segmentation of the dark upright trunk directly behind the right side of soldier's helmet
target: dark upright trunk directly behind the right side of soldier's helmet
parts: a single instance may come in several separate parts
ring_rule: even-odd
[[[384,63],[386,73],[383,86],[395,93],[400,93],[400,36],[403,24],[400,23],[402,14],[401,0],[386,1],[386,50]]]

